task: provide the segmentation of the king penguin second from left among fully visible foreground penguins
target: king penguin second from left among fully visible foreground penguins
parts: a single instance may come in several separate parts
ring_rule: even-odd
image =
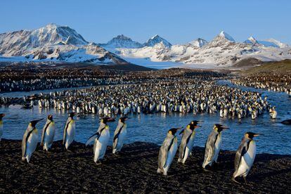
[[[48,151],[53,144],[53,137],[55,136],[55,122],[53,121],[53,115],[48,115],[44,129],[41,134],[41,146],[44,150]]]

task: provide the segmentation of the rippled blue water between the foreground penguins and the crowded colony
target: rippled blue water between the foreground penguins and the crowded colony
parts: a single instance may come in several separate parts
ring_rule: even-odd
[[[219,84],[228,84],[227,81],[220,81]],[[264,134],[257,137],[258,153],[273,154],[291,154],[291,126],[280,124],[283,119],[291,118],[291,98],[286,93],[269,92],[261,89],[251,89],[240,87],[252,91],[259,91],[262,96],[268,96],[269,103],[276,105],[278,111],[278,119],[270,119],[269,112],[260,115],[254,121],[250,118],[243,119],[225,119],[220,118],[219,114],[209,115],[202,113],[198,115],[180,114],[180,113],[156,113],[153,115],[129,115],[131,119],[127,121],[127,138],[125,143],[134,141],[148,141],[161,144],[167,134],[167,130],[172,127],[185,127],[193,119],[203,120],[202,127],[196,130],[195,145],[203,147],[207,136],[212,131],[215,123],[224,124],[231,128],[222,134],[222,149],[236,150],[240,144],[240,140],[246,131],[253,131]],[[35,91],[33,93],[36,93]],[[1,94],[0,94],[1,95]],[[25,92],[18,95],[25,96]],[[52,114],[56,122],[55,140],[63,138],[63,128],[67,119],[67,111],[50,109],[39,109],[34,106],[31,110],[21,109],[20,105],[11,105],[9,108],[2,107],[0,112],[5,113],[4,117],[4,136],[3,138],[21,139],[27,128],[27,124],[32,119],[46,118],[46,115]],[[39,140],[41,129],[46,121],[43,120],[37,124],[39,129]],[[96,115],[85,115],[84,117],[76,117],[76,136],[75,140],[85,142],[86,139],[98,129],[99,117]],[[117,126],[117,122],[109,124],[110,126],[110,142]]]

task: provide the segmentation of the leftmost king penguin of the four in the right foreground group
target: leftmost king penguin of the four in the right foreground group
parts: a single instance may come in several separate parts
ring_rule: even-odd
[[[158,157],[157,173],[163,173],[167,176],[168,169],[172,164],[178,149],[178,138],[176,137],[176,131],[179,129],[181,128],[169,129],[167,137],[164,138]]]

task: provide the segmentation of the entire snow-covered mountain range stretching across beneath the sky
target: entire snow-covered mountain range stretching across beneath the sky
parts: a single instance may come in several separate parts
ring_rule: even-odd
[[[136,65],[162,62],[163,67],[166,67],[166,62],[175,67],[229,67],[245,58],[263,61],[289,59],[291,48],[275,39],[259,41],[250,37],[240,43],[224,31],[209,42],[199,38],[174,45],[158,35],[144,44],[124,35],[107,44],[88,43],[72,28],[54,24],[36,30],[0,34],[0,61],[9,62],[115,64],[129,61]]]

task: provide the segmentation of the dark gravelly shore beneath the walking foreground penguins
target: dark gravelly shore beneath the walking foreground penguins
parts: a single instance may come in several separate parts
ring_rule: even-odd
[[[60,141],[51,153],[39,147],[31,165],[21,161],[21,141],[0,142],[0,193],[290,193],[291,155],[259,154],[249,183],[233,183],[233,151],[222,151],[211,172],[201,167],[203,148],[195,147],[186,164],[174,159],[168,176],[157,174],[159,146],[153,143],[124,145],[122,154],[108,147],[103,164],[93,162],[92,146],[73,143],[71,152]]]

